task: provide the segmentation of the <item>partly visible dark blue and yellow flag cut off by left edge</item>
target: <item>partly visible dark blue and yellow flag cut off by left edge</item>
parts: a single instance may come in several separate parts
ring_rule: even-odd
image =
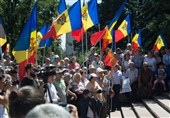
[[[0,18],[0,46],[2,47],[6,43],[6,34],[2,24],[2,19]]]

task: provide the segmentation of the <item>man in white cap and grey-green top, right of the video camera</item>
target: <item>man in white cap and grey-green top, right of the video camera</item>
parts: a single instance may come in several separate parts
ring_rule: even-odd
[[[66,85],[65,82],[62,78],[62,71],[61,70],[57,70],[56,71],[56,78],[53,82],[57,92],[58,92],[58,96],[60,98],[60,102],[62,103],[67,103],[67,98],[66,98]]]

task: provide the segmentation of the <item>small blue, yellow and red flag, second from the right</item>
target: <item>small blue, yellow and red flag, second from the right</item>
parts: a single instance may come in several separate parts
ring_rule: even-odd
[[[138,32],[135,34],[135,36],[132,39],[132,48],[133,48],[133,51],[136,52],[136,49],[138,47],[142,47],[141,30],[138,30]]]

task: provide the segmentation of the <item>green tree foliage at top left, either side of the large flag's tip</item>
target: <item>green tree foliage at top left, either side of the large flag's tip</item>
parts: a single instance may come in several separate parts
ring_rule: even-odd
[[[35,0],[1,0],[0,17],[3,20],[7,40],[14,47],[34,6]],[[58,0],[38,0],[37,29],[51,25],[56,17]]]

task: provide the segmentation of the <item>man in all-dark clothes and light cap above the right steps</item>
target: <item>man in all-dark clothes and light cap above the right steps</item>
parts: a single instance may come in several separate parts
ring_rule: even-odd
[[[139,71],[138,76],[138,87],[139,87],[139,96],[141,98],[148,98],[151,96],[152,91],[152,81],[153,81],[153,72],[148,67],[148,63],[143,63],[143,68]]]

